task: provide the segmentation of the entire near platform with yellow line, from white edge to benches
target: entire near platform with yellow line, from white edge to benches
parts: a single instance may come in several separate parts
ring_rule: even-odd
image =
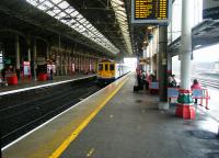
[[[216,158],[218,124],[196,108],[195,120],[159,110],[134,93],[127,75],[5,147],[3,158]]]

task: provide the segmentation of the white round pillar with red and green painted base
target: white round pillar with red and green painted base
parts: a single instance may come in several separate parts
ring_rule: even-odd
[[[175,114],[186,120],[195,119],[191,91],[191,54],[192,54],[192,15],[191,0],[182,1],[182,35],[181,35],[181,89],[178,90]]]

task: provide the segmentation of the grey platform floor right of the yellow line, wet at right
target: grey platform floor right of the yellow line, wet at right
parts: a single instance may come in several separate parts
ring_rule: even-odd
[[[61,158],[219,158],[217,123],[196,109],[187,121],[158,110],[158,97],[134,93],[131,76]]]

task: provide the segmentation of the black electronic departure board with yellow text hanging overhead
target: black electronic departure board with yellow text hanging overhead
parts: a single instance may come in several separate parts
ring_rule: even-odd
[[[168,23],[171,2],[169,0],[132,0],[132,23]]]

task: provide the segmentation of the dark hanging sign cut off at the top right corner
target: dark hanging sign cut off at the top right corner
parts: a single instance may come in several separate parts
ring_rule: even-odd
[[[219,0],[203,1],[203,19],[219,20]]]

